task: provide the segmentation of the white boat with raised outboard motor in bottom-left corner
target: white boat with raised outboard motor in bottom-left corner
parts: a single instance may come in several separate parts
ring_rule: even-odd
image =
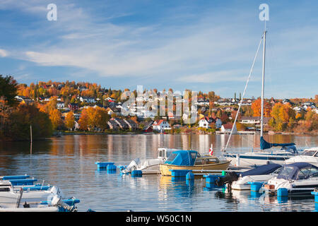
[[[22,194],[22,196],[21,196]],[[20,197],[21,196],[21,197]],[[11,182],[1,181],[0,182],[0,203],[10,204],[16,203],[20,197],[20,202],[35,202],[35,201],[49,201],[54,196],[60,196],[64,198],[63,193],[57,186],[52,186],[47,190],[33,190],[23,189],[23,186],[17,188],[12,186]]]

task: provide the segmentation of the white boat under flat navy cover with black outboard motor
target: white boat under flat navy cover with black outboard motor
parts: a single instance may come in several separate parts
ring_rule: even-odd
[[[216,180],[218,186],[226,186],[233,190],[250,190],[250,182],[265,183],[269,179],[278,175],[282,165],[266,164],[254,169],[249,169],[245,172],[228,172],[225,177],[220,177]]]

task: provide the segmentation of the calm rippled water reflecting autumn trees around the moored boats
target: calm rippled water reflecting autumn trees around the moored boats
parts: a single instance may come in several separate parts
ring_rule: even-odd
[[[0,144],[0,175],[30,174],[38,182],[59,186],[66,196],[81,200],[78,211],[315,211],[314,197],[278,201],[253,196],[249,191],[228,194],[207,189],[204,179],[172,181],[171,177],[131,177],[97,170],[95,162],[127,165],[135,157],[154,158],[159,147],[198,150],[215,155],[225,146],[227,135],[76,135],[33,143]],[[298,148],[318,146],[317,136],[275,135],[275,143],[294,142]],[[259,136],[232,136],[230,149],[244,151],[259,146]]]

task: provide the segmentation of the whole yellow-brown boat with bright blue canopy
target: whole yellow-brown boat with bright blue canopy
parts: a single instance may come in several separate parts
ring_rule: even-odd
[[[165,163],[160,164],[160,174],[171,176],[170,169],[225,170],[229,165],[230,160],[219,160],[213,155],[201,156],[196,150],[175,150]]]

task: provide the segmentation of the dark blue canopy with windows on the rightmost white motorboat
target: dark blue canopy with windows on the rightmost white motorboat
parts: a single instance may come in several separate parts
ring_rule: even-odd
[[[310,163],[307,163],[307,162],[294,162],[294,163],[291,163],[288,165],[284,165],[281,172],[279,172],[277,178],[278,179],[287,179],[287,180],[299,179],[298,172],[300,172],[301,169],[304,169],[307,167],[318,169],[318,167],[316,167],[315,165],[311,165]],[[310,170],[310,171],[317,172],[314,170]],[[307,171],[307,172],[310,172],[310,171]]]

